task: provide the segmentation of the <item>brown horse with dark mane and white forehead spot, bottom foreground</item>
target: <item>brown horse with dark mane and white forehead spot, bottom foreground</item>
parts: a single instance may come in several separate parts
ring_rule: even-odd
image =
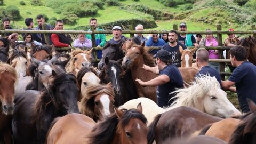
[[[95,124],[89,117],[69,114],[60,118],[50,130],[47,144],[57,143],[147,143],[147,119],[137,109],[118,110]]]

